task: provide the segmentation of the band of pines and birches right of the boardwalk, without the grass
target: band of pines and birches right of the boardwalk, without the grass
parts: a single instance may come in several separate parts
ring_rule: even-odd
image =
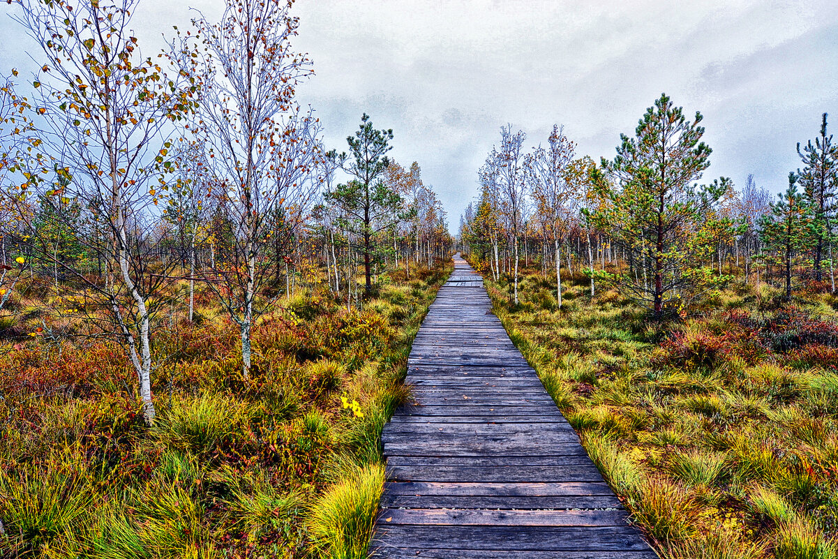
[[[598,282],[617,287],[654,318],[685,316],[734,277],[776,284],[786,299],[804,283],[835,292],[838,146],[826,113],[776,197],[753,175],[741,189],[726,177],[698,184],[712,151],[701,122],[662,94],[598,164],[562,127],[529,153],[525,132],[502,127],[460,219],[464,248],[494,279],[510,274],[516,304],[521,260],[555,277],[560,308],[563,267],[590,277],[591,296]]]

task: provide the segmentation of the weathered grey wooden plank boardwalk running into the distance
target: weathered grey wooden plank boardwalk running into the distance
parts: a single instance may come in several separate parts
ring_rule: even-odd
[[[416,405],[382,438],[370,549],[389,559],[651,559],[654,551],[458,255],[408,359]]]

